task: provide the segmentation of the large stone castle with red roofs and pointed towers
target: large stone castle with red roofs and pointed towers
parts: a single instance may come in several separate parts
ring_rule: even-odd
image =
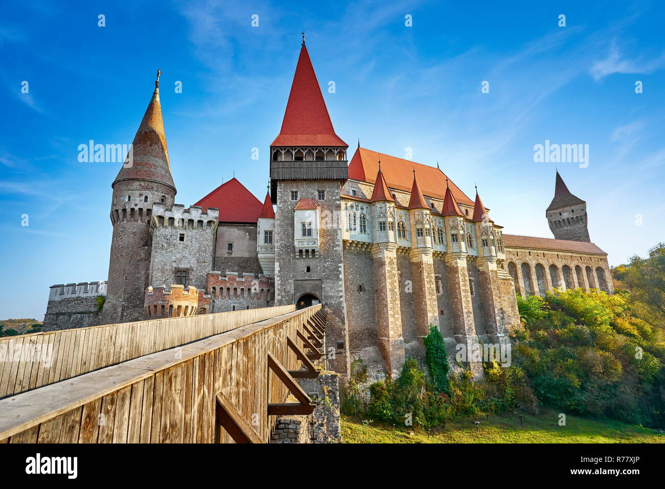
[[[430,325],[448,351],[507,343],[516,292],[613,291],[558,172],[550,239],[504,234],[439,168],[359,143],[349,162],[304,39],[263,202],[233,178],[176,204],[159,79],[132,148],[112,183],[108,281],[53,285],[46,330],[321,302],[331,368],[360,357],[394,375],[422,357]]]

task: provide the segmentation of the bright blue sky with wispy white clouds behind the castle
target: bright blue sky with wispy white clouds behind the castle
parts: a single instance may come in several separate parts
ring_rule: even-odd
[[[665,240],[664,14],[655,1],[5,2],[0,319],[41,320],[50,285],[106,279],[118,164],[77,148],[130,144],[158,68],[176,202],[233,172],[262,199],[303,29],[351,148],[438,160],[471,198],[477,183],[504,232],[531,236],[551,237],[558,166],[610,264],[644,255]],[[545,140],[589,144],[589,166],[534,162]]]

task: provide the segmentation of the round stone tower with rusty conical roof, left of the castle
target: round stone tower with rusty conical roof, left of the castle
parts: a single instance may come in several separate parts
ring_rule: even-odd
[[[159,77],[132,149],[113,181],[111,223],[113,238],[108,264],[108,290],[102,323],[144,319],[152,239],[152,204],[170,208],[176,197],[166,148]]]

